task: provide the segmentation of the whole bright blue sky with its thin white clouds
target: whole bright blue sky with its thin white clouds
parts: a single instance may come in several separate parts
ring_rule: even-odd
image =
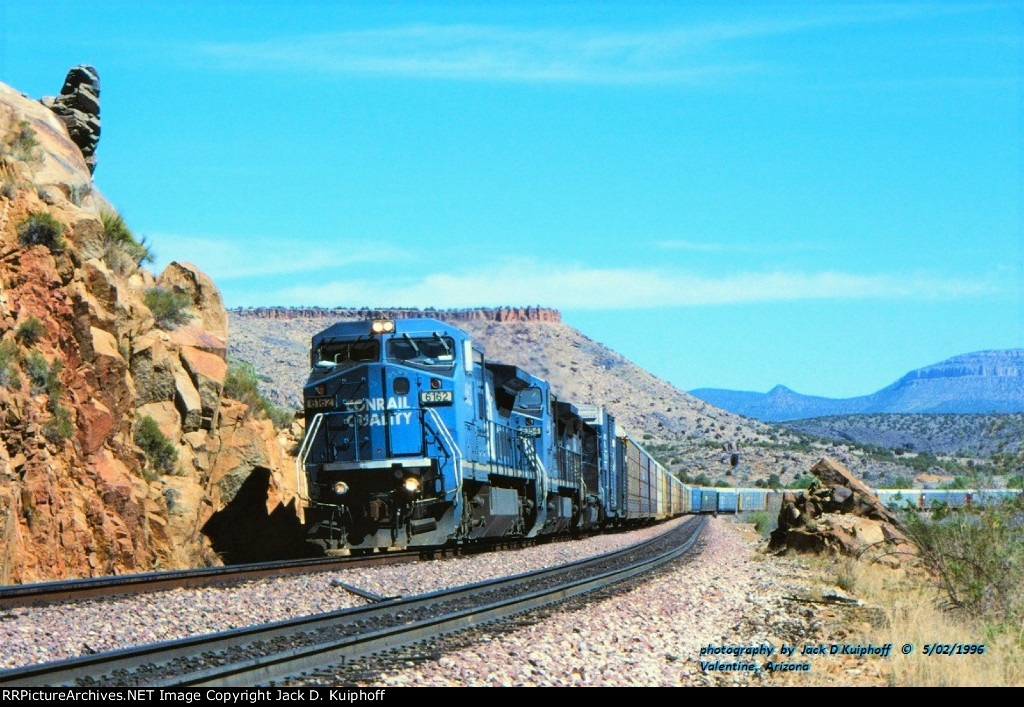
[[[543,304],[679,387],[1024,345],[1019,2],[0,4],[228,306]]]

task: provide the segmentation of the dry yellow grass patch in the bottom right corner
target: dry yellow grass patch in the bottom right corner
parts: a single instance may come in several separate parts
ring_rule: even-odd
[[[884,621],[860,624],[861,642],[892,642],[883,676],[897,687],[1024,685],[1024,627],[986,624],[938,608],[941,596],[923,573],[869,560],[838,560],[834,577],[863,601],[880,608]],[[851,636],[853,637],[853,636]],[[847,639],[849,641],[849,639]],[[912,643],[903,655],[901,647]],[[984,644],[984,655],[925,655],[926,646]]]

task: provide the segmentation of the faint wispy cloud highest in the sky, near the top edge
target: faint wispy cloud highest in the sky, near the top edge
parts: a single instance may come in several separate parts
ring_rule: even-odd
[[[208,66],[241,70],[451,80],[701,84],[768,70],[760,59],[751,60],[731,51],[744,40],[893,20],[923,12],[926,9],[915,6],[854,6],[816,10],[802,17],[631,32],[415,25],[265,41],[208,42],[190,50]]]

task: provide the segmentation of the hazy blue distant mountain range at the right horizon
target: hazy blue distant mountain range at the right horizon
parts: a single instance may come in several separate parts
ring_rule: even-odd
[[[956,356],[858,398],[804,396],[784,385],[768,392],[723,388],[689,392],[717,408],[766,422],[867,413],[1024,412],[1024,348]]]

